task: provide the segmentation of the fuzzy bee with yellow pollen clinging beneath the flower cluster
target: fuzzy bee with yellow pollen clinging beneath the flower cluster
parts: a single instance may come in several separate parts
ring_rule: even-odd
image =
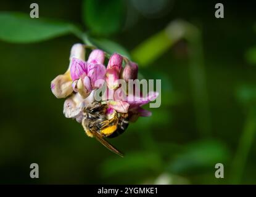
[[[94,101],[83,108],[83,120],[81,122],[83,129],[89,137],[95,137],[110,151],[123,156],[120,151],[113,147],[105,137],[114,138],[123,134],[129,125],[128,113],[107,114],[108,105],[106,103]]]

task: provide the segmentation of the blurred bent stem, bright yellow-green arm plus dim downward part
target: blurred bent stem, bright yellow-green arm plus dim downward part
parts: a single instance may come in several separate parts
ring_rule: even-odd
[[[202,36],[198,28],[191,25],[191,23],[175,20],[167,28],[139,44],[133,49],[131,55],[140,66],[147,66],[157,60],[160,55],[180,39],[186,39],[189,46],[189,75],[197,129],[202,136],[210,135],[210,110],[206,88]]]

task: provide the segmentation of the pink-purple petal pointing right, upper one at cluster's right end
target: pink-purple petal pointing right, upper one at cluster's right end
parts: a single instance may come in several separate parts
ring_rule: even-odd
[[[141,96],[136,96],[136,95],[128,95],[126,98],[126,102],[130,104],[130,109],[136,108],[136,107],[141,107],[142,105],[145,105],[151,101],[154,101],[155,98],[157,98],[159,95],[158,92],[149,92],[147,94],[147,97],[141,97]]]

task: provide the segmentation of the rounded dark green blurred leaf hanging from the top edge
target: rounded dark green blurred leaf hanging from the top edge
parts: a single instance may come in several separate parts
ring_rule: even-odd
[[[121,0],[86,0],[83,1],[83,20],[94,34],[108,35],[120,30],[124,10]]]

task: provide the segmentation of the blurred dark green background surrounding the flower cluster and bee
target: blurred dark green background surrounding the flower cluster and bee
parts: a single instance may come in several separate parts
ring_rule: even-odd
[[[0,183],[256,183],[255,2],[223,1],[220,19],[215,1],[36,1],[39,19],[29,18],[31,3],[0,2]],[[9,22],[2,11],[28,19]],[[162,79],[161,107],[110,140],[125,158],[66,119],[64,99],[51,92],[80,33],[50,28],[51,39],[17,43],[44,17],[78,25],[84,41]],[[224,179],[215,178],[217,163]]]

